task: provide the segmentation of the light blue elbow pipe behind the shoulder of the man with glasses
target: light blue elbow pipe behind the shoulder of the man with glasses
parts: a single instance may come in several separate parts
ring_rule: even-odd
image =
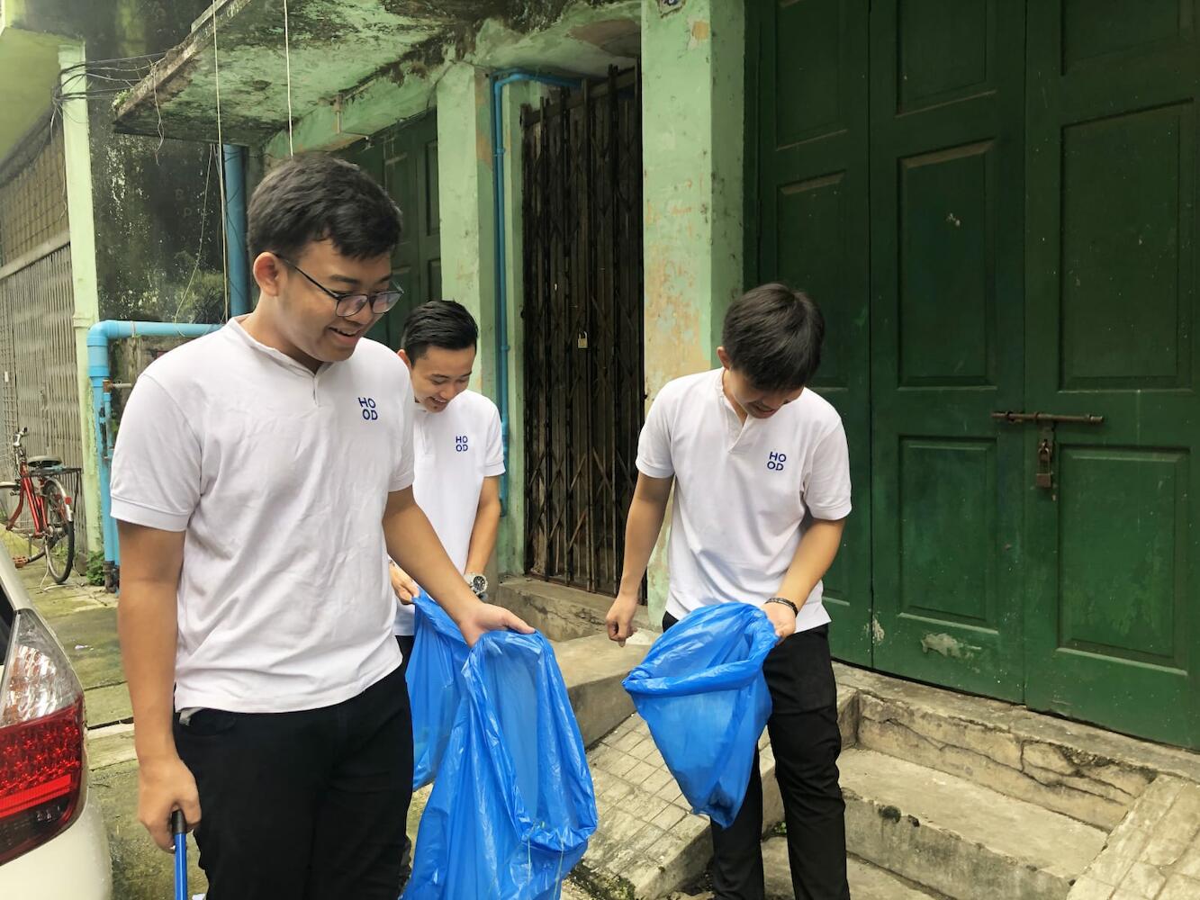
[[[91,410],[96,431],[96,456],[100,460],[101,533],[104,539],[104,586],[113,590],[121,565],[121,548],[116,541],[113,500],[108,494],[109,467],[113,461],[114,436],[113,383],[109,379],[108,342],[122,337],[199,337],[216,331],[221,325],[196,325],[174,322],[97,322],[88,329],[88,377],[91,379]]]

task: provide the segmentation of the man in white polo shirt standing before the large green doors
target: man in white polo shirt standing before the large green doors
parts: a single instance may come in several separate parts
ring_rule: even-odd
[[[841,419],[805,388],[823,336],[808,296],[764,284],[730,307],[721,367],[662,388],[642,428],[620,590],[607,617],[608,636],[624,644],[673,485],[662,628],[702,606],[746,602],[779,636],[763,671],[798,900],[850,898],[838,696],[821,604],[821,578],[850,515],[850,464]],[[761,836],[756,761],[737,818],[713,826],[716,898],[763,898]]]

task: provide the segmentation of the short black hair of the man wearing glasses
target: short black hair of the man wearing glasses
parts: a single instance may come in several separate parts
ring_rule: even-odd
[[[372,259],[400,242],[403,217],[383,186],[354,163],[328,154],[292,156],[262,180],[246,214],[251,258],[295,259],[329,240],[350,259]]]

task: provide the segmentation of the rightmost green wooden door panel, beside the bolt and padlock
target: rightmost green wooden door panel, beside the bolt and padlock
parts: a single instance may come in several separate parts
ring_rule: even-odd
[[[1026,700],[1200,746],[1196,0],[1030,4]],[[1032,86],[1036,85],[1036,89]],[[1013,426],[1014,430],[1018,426]]]

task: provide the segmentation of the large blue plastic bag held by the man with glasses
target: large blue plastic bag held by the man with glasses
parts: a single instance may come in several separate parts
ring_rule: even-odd
[[[553,900],[596,827],[583,739],[541,635],[485,634],[403,900]]]

